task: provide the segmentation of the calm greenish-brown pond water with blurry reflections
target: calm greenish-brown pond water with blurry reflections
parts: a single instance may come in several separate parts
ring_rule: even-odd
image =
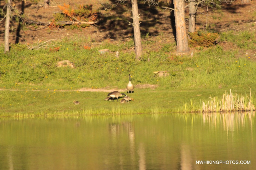
[[[254,113],[2,118],[0,169],[256,169],[255,129]]]

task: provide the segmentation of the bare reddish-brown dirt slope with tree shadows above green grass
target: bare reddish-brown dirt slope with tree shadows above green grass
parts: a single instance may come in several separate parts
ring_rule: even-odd
[[[38,6],[43,5],[43,1],[39,1],[39,4],[31,3],[33,1],[27,0],[26,3],[14,1],[16,7],[20,11],[24,11],[23,14],[30,20],[38,20],[41,22],[49,22],[53,19],[53,14],[60,12],[58,5],[69,4],[70,6],[77,8],[79,4],[85,4],[85,1],[56,1],[50,0],[50,8],[40,8]],[[138,5],[141,14],[141,31],[143,35],[150,35],[150,40],[156,40],[161,44],[162,42],[174,41],[172,17],[170,11],[161,6],[168,6],[167,1],[160,2],[157,7],[149,8],[147,5],[140,3]],[[2,8],[5,1],[0,1],[0,7]],[[102,42],[109,40],[111,42],[125,41],[132,37],[132,26],[127,25],[127,22],[131,20],[130,4],[116,3],[114,0],[87,0],[87,4],[92,4],[93,9],[99,9],[99,17],[95,26],[82,28],[81,30],[74,29],[61,29],[61,30],[49,30],[48,27],[39,26],[23,27],[18,29],[17,22],[13,20],[11,22],[11,43],[37,43],[39,40],[47,41],[50,39],[63,39],[74,37],[85,37],[90,40]],[[24,7],[22,8],[22,5]],[[107,5],[107,7],[106,7]],[[143,5],[143,6],[142,6]],[[106,10],[105,10],[105,9]],[[225,4],[225,9],[217,10],[209,8],[208,12],[208,25],[210,29],[217,32],[223,32],[226,30],[248,30],[255,31],[256,29],[256,2],[252,1],[251,4],[242,5],[241,1],[237,0],[230,5]],[[188,16],[188,10],[186,15]],[[114,20],[109,18],[115,17]],[[117,19],[116,19],[117,18]],[[0,18],[1,19],[1,18]],[[0,23],[0,43],[4,41],[4,21]],[[196,26],[197,29],[204,29],[206,25],[206,8],[199,8],[197,12]],[[158,37],[158,39],[157,39]],[[159,39],[159,37],[161,37]],[[230,44],[223,44],[223,46],[230,47]],[[158,48],[154,45],[154,48]]]

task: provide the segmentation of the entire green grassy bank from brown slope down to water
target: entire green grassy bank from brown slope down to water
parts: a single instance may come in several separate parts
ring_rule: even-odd
[[[83,38],[71,41],[64,39],[52,42],[51,45],[55,45],[54,47],[60,47],[57,52],[50,52],[49,48],[28,50],[22,44],[12,44],[7,54],[3,53],[2,45],[0,88],[20,91],[0,91],[2,104],[0,112],[1,114],[5,112],[6,114],[189,112],[200,109],[202,105],[200,100],[207,101],[210,95],[221,96],[229,89],[248,94],[251,87],[254,95],[255,33],[226,32],[220,34],[220,40],[232,42],[238,46],[237,50],[224,50],[216,45],[193,49],[193,57],[176,56],[172,54],[175,52],[175,43],[161,44],[157,50],[148,50],[156,46],[156,42],[151,41],[149,44],[144,43],[145,53],[140,62],[135,60],[135,54],[130,50],[131,40],[123,43],[105,41],[95,45]],[[84,42],[92,48],[84,49]],[[98,50],[104,48],[108,48],[110,52],[101,55]],[[251,53],[246,54],[248,50]],[[120,53],[119,58],[115,57],[116,51]],[[148,58],[150,62],[147,61]],[[76,68],[56,66],[58,61],[66,59],[73,62]],[[153,73],[154,71],[168,71],[170,75],[158,77]],[[156,84],[158,88],[142,90],[135,87],[136,91],[132,94],[135,102],[129,105],[104,101],[107,93],[76,91],[84,87],[123,89],[126,87],[129,74],[132,75],[132,82],[135,85]],[[60,90],[74,91],[60,92]],[[201,94],[201,97],[195,97],[197,94]],[[73,100],[79,100],[81,105],[73,105]]]

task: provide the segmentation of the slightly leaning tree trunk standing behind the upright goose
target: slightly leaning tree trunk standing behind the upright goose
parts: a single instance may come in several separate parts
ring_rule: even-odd
[[[142,54],[141,45],[141,31],[140,31],[140,20],[138,14],[138,2],[137,0],[131,0],[132,2],[132,20],[133,20],[133,34],[134,34],[134,44],[135,44],[135,56],[139,60]]]

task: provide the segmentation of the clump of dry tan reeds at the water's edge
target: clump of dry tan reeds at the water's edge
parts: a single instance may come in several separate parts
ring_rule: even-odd
[[[239,96],[237,93],[230,94],[227,91],[222,95],[219,100],[217,97],[212,98],[208,102],[202,103],[203,112],[244,112],[244,111],[255,111],[253,104],[253,97],[250,96]]]

